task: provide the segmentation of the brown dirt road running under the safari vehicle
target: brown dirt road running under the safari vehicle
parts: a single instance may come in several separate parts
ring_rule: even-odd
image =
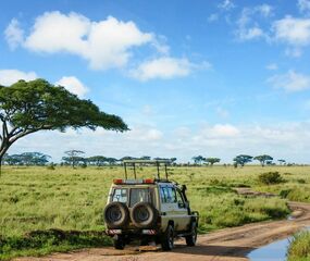
[[[240,191],[243,194],[243,191]],[[23,258],[18,260],[51,260],[51,261],[169,261],[169,260],[212,260],[212,261],[241,261],[253,249],[287,237],[295,232],[310,226],[310,204],[289,202],[294,210],[294,219],[285,221],[262,222],[248,224],[235,228],[225,228],[198,237],[196,247],[186,247],[183,240],[177,240],[175,249],[162,252],[157,249],[137,251],[134,247],[125,250],[112,248],[87,249],[71,253],[55,253],[45,258]]]

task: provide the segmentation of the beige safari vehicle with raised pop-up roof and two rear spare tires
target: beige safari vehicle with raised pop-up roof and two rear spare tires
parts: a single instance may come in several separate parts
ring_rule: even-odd
[[[124,161],[125,178],[114,179],[104,209],[107,234],[116,249],[124,249],[134,239],[141,245],[161,244],[163,250],[174,247],[175,237],[185,237],[187,246],[195,246],[199,213],[191,211],[186,186],[168,178],[166,160]],[[136,165],[156,165],[157,177],[137,179]],[[164,165],[165,178],[160,177]],[[134,179],[127,178],[132,166]]]

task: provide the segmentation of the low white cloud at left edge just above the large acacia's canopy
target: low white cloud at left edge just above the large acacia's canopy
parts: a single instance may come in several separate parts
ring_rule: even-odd
[[[22,72],[18,70],[0,70],[0,85],[10,86],[20,79],[26,82],[38,78],[35,72]]]

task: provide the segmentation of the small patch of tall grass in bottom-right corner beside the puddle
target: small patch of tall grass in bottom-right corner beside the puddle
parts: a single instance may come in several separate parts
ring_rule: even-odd
[[[302,232],[294,236],[288,249],[288,261],[310,260],[310,232]]]

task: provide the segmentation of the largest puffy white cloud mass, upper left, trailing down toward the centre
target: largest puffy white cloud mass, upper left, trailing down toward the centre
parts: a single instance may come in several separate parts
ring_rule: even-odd
[[[129,61],[134,48],[152,47],[160,58],[142,62],[135,72],[129,73],[142,80],[187,76],[193,69],[200,67],[187,59],[172,58],[164,36],[144,33],[134,22],[123,22],[113,16],[96,22],[74,12],[46,12],[35,20],[30,33],[25,37],[16,20],[11,22],[7,32],[10,33],[7,40],[14,48],[20,45],[38,53],[78,55],[88,61],[92,70],[126,71],[132,67]],[[163,69],[158,65],[163,65]],[[203,66],[206,65],[207,63],[203,63]]]

